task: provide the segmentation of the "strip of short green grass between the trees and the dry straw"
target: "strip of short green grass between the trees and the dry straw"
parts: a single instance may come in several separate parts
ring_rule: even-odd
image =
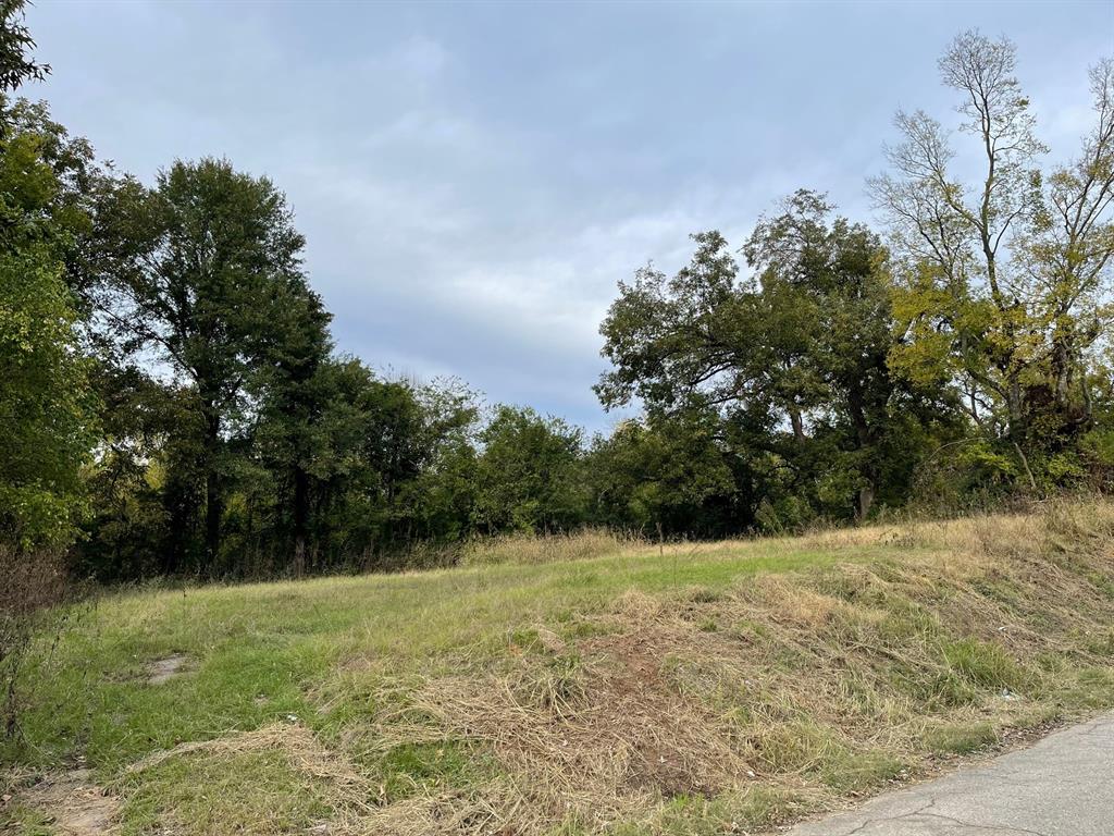
[[[661,556],[649,548],[564,564],[108,596],[35,683],[22,722],[32,747],[0,754],[52,766],[80,751],[108,778],[149,752],[287,716],[325,727],[306,694],[334,684],[345,660],[395,674],[448,669],[461,652],[500,654],[524,625],[551,623],[575,634],[584,618],[627,590],[722,587],[836,558],[783,544],[770,551]],[[173,654],[186,655],[188,670],[148,686],[146,664]]]

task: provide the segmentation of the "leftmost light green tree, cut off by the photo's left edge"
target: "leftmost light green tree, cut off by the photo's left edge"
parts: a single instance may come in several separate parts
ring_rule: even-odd
[[[84,218],[61,210],[57,126],[8,99],[49,69],[27,55],[22,7],[0,4],[0,537],[27,548],[76,532],[92,400],[65,264]]]

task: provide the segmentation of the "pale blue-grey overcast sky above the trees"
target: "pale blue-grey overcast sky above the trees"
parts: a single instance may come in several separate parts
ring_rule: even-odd
[[[1008,35],[1068,154],[1114,2],[48,2],[41,95],[150,181],[175,158],[266,174],[309,239],[340,350],[452,375],[589,429],[616,282],[733,243],[778,198],[870,220],[900,106],[946,117],[936,58]]]

